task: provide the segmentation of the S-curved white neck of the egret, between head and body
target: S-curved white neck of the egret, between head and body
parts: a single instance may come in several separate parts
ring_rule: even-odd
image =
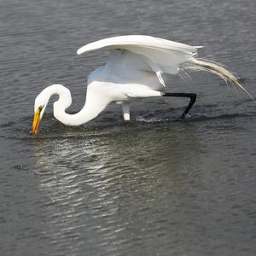
[[[91,119],[94,119],[99,113],[102,112],[108,104],[97,104],[98,99],[96,96],[91,94],[87,90],[86,102],[84,107],[79,111],[79,113],[66,113],[66,109],[72,103],[72,97],[70,90],[61,84],[53,84],[42,91],[45,96],[58,95],[59,100],[54,103],[54,116],[64,125],[82,125]]]

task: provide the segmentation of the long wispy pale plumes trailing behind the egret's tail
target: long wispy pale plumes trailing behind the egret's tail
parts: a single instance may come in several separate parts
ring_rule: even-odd
[[[232,84],[236,84],[238,87],[241,88],[241,90],[244,90],[247,95],[253,99],[253,102],[255,102],[253,96],[240,84],[238,79],[236,79],[236,77],[232,73],[230,73],[228,70],[226,70],[215,61],[191,58],[189,59],[189,61],[185,62],[185,68],[189,68],[195,71],[207,71],[210,73],[215,73],[221,79],[224,79],[226,83],[230,82]]]

